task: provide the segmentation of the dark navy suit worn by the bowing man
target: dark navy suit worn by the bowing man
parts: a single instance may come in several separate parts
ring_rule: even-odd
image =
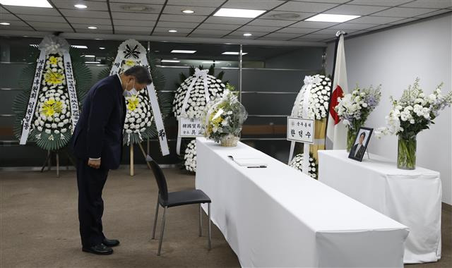
[[[83,247],[102,243],[102,189],[109,169],[121,162],[122,130],[126,104],[121,82],[112,75],[97,82],[86,95],[73,133],[77,157],[78,220]],[[100,157],[100,169],[88,166],[89,158]]]

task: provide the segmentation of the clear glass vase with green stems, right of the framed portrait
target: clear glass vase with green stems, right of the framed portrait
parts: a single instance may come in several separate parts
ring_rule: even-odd
[[[416,136],[398,136],[398,169],[416,169]]]

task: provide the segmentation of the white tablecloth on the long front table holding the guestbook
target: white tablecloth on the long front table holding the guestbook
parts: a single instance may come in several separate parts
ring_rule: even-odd
[[[242,267],[403,267],[406,226],[241,142],[196,146],[196,188]]]

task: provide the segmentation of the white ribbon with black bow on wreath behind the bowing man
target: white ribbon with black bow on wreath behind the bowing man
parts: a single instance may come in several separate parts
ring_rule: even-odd
[[[114,59],[110,75],[115,75],[119,72],[123,59],[133,59],[135,61],[137,60],[141,61],[143,66],[148,68],[149,75],[151,76],[152,79],[152,75],[150,74],[148,58],[146,57],[146,50],[140,43],[138,43],[138,41],[129,39],[124,41],[119,46],[118,54],[116,56],[116,59]],[[163,124],[162,113],[160,111],[160,105],[158,104],[157,92],[155,90],[154,82],[148,85],[146,88],[148,90],[150,106],[153,109],[153,116],[155,121],[155,127],[157,128],[157,137],[160,144],[160,150],[162,150],[162,155],[165,156],[169,154],[167,133],[165,131],[165,126]]]

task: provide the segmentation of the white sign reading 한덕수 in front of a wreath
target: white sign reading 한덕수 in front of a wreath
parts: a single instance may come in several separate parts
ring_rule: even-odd
[[[314,144],[314,119],[287,116],[287,140]]]

